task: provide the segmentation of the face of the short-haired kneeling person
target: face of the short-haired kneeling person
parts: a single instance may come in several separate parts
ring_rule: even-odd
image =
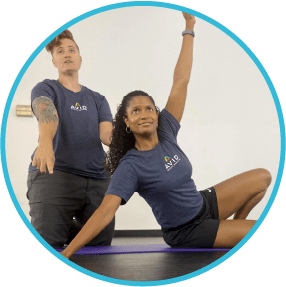
[[[80,69],[82,58],[74,41],[62,39],[58,47],[53,50],[53,64],[59,73],[71,74]]]

